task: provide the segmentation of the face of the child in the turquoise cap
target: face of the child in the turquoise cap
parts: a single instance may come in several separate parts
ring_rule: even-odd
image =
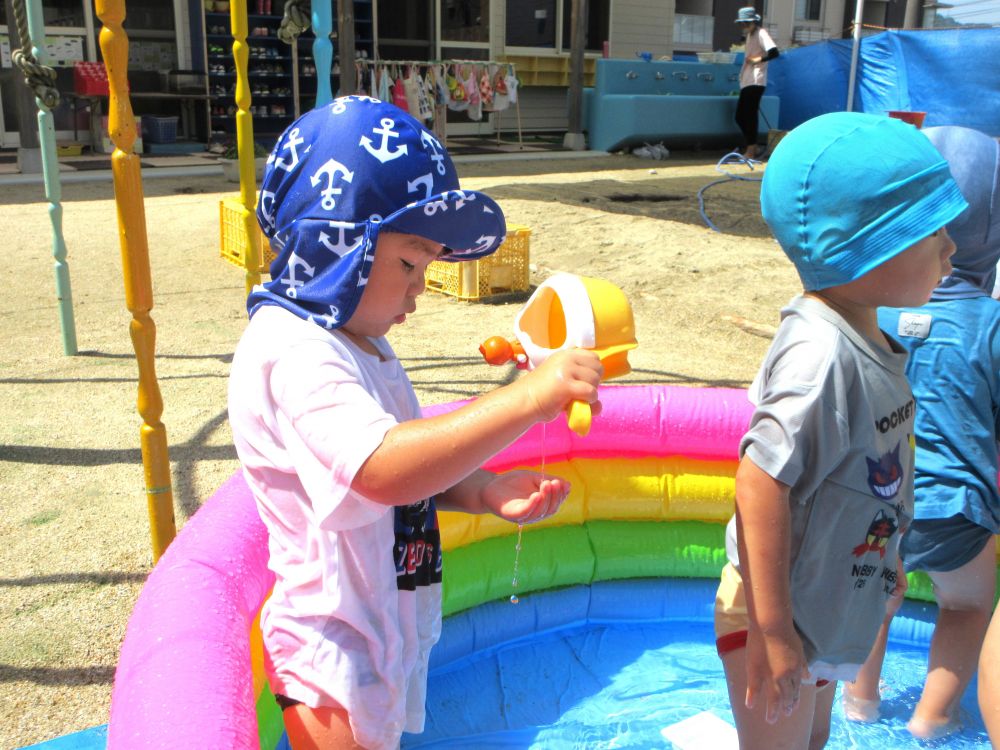
[[[843,288],[865,306],[919,307],[951,273],[948,259],[954,252],[955,243],[942,227]]]

